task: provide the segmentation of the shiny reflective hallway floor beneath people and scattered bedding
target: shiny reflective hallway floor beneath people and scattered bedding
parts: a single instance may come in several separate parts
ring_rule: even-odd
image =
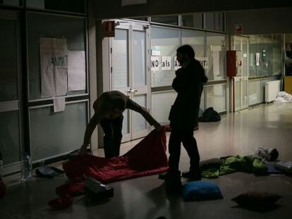
[[[237,113],[221,116],[219,123],[200,123],[195,137],[201,160],[229,155],[247,155],[259,146],[276,148],[279,160],[292,161],[292,104],[262,104]],[[169,134],[168,134],[169,137]],[[139,140],[123,144],[121,154]],[[182,149],[180,168],[188,170],[188,156]],[[102,150],[95,151],[102,156]],[[59,164],[56,163],[58,166]],[[17,180],[19,175],[5,177],[8,191],[0,199],[0,218],[291,218],[292,177],[286,175],[255,176],[233,173],[209,180],[219,184],[224,199],[184,202],[181,196],[166,194],[157,175],[140,177],[108,185],[114,187],[114,198],[92,203],[84,196],[74,199],[64,211],[51,211],[47,202],[56,198],[55,187],[66,182],[65,176],[54,179]],[[182,178],[182,182],[185,180]],[[242,192],[258,190],[284,196],[280,207],[258,213],[236,207],[231,201]]]

